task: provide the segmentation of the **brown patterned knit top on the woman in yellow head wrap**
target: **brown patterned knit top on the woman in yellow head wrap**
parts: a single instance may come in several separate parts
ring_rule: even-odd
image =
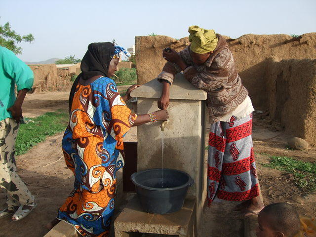
[[[183,75],[195,87],[207,92],[207,106],[210,122],[218,121],[243,102],[248,96],[247,89],[242,85],[241,79],[235,69],[234,58],[226,40],[219,34],[218,43],[207,61],[197,66],[190,55],[190,45],[179,52],[187,67]],[[181,69],[174,63],[167,62],[157,79],[169,81],[171,84],[175,75]]]

